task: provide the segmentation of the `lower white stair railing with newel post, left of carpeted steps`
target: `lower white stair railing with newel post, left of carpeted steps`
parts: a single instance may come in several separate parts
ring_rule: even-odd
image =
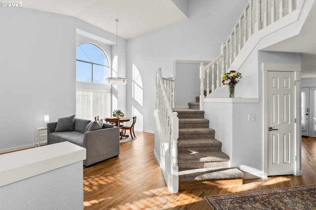
[[[175,80],[162,78],[161,68],[156,75],[155,118],[160,145],[160,169],[164,180],[173,193],[179,190],[178,177],[178,113],[172,111],[175,104]],[[156,139],[155,139],[156,141]]]

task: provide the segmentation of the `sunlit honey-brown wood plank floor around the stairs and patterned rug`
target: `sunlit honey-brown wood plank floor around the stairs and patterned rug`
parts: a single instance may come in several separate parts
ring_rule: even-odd
[[[118,157],[83,168],[84,210],[208,210],[203,196],[316,184],[316,138],[303,138],[303,176],[243,180],[242,185],[172,194],[154,155],[154,134],[135,133],[135,141],[120,144]]]

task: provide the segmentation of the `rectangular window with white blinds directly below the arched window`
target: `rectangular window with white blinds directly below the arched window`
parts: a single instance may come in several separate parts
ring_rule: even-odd
[[[76,118],[94,120],[95,116],[111,116],[110,104],[109,91],[77,90]]]

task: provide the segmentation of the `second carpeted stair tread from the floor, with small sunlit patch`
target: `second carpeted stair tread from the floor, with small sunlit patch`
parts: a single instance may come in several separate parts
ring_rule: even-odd
[[[224,162],[230,158],[222,151],[197,152],[197,153],[179,153],[178,163],[192,162]]]

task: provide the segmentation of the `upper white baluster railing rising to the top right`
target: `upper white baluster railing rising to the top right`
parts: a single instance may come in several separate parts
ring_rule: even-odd
[[[204,90],[206,90],[207,97],[211,91],[222,87],[222,75],[231,70],[230,67],[249,38],[295,10],[300,12],[303,4],[304,0],[248,1],[234,29],[227,40],[222,43],[221,55],[207,65],[204,65],[204,63],[200,65],[200,110],[203,110]]]

